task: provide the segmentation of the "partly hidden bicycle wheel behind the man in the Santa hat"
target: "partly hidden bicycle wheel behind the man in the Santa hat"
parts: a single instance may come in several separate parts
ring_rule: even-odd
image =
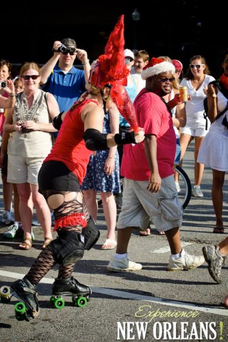
[[[178,173],[179,187],[181,189],[180,192],[178,192],[178,197],[183,209],[186,209],[192,196],[192,185],[188,178],[188,174],[186,174],[180,166],[176,166],[176,171]]]

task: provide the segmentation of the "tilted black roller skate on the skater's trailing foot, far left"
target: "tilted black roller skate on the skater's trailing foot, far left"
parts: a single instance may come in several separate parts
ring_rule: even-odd
[[[1,302],[8,303],[14,296],[20,302],[14,305],[15,316],[18,321],[29,321],[31,318],[38,316],[38,292],[36,286],[32,285],[29,280],[23,278],[16,280],[10,286],[2,286],[0,289]]]

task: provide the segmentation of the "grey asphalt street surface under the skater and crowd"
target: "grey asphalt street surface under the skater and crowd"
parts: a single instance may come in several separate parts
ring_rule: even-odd
[[[194,183],[193,146],[186,153],[184,170]],[[214,211],[210,188],[211,170],[206,169],[201,186],[204,197],[191,198],[183,215],[181,241],[190,254],[202,254],[205,244],[216,244],[225,234],[213,234]],[[2,195],[2,194],[1,194]],[[228,185],[224,192],[225,231],[228,231]],[[1,196],[2,210],[2,196]],[[92,287],[90,301],[83,308],[65,297],[65,307],[51,307],[51,283],[58,275],[55,266],[38,285],[40,315],[32,321],[17,321],[12,298],[0,303],[0,341],[228,341],[228,310],[223,299],[228,295],[227,262],[223,282],[217,285],[207,272],[207,263],[197,269],[168,272],[170,251],[166,237],[140,237],[134,231],[129,244],[129,259],[142,263],[138,272],[107,272],[114,250],[101,250],[106,226],[99,208],[101,237],[92,250],[75,266],[74,276]],[[34,227],[31,250],[18,249],[20,239],[5,239],[0,228],[0,285],[10,285],[23,277],[40,253],[42,228]]]

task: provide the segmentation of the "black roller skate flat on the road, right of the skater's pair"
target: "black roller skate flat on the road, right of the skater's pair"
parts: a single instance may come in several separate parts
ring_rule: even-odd
[[[75,278],[55,279],[52,287],[51,304],[55,308],[63,308],[64,300],[62,295],[72,295],[72,302],[75,306],[86,306],[90,294],[90,287],[80,284]]]

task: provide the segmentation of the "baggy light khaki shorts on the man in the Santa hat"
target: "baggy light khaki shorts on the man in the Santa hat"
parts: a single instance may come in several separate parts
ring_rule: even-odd
[[[162,179],[160,192],[147,190],[148,181],[133,181],[125,178],[123,205],[118,216],[117,228],[147,228],[153,221],[157,231],[169,231],[180,227],[183,209],[179,202],[174,176]]]

